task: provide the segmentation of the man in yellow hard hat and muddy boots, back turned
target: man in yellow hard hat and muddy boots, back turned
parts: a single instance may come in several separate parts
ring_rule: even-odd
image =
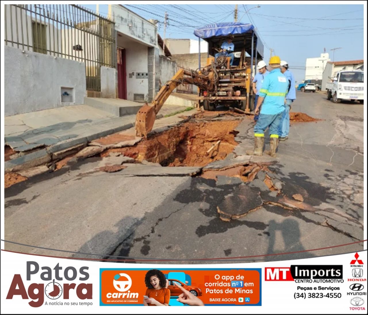
[[[282,113],[285,110],[285,96],[289,84],[286,77],[280,70],[280,57],[272,56],[269,66],[272,69],[263,80],[262,88],[259,90],[258,102],[254,114],[261,113],[254,126],[254,150],[247,151],[249,155],[262,155],[264,144],[264,132],[269,128],[270,151],[265,153],[275,157],[276,149],[279,144],[279,125]]]

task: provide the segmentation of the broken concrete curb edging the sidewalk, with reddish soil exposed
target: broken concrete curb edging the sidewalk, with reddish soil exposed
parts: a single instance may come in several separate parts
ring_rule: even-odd
[[[4,163],[4,173],[9,173],[12,171],[13,172],[22,171],[25,169],[29,169],[31,167],[35,167],[41,164],[48,163],[52,160],[54,153],[65,151],[68,148],[73,148],[78,145],[86,146],[88,142],[90,141],[93,141],[101,137],[105,137],[109,134],[114,134],[116,132],[126,130],[132,127],[134,127],[134,123],[128,123],[128,124],[125,124],[119,127],[96,132],[95,134],[91,134],[86,137],[72,138],[72,139],[61,141],[45,149],[42,149],[36,152],[32,152],[32,153],[29,153],[29,154],[26,154],[26,155],[17,157],[13,160],[5,162]]]

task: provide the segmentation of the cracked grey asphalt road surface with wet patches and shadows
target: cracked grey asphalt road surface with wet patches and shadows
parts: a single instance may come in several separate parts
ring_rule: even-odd
[[[270,167],[275,180],[286,195],[301,193],[304,209],[263,203],[224,222],[217,207],[238,198],[246,186],[236,178],[216,182],[188,176],[195,168],[167,171],[137,164],[116,173],[96,172],[116,160],[89,158],[5,190],[5,240],[32,245],[6,243],[5,249],[123,262],[123,257],[128,262],[175,259],[173,263],[275,261],[361,250],[363,244],[355,243],[306,251],[363,239],[363,106],[297,92],[292,111],[322,120],[292,123],[276,159],[252,158],[275,160]],[[234,164],[252,148],[251,121],[237,129],[240,144],[221,163]],[[252,185],[258,195],[256,182]],[[267,194],[261,192],[263,201],[273,198]],[[240,209],[248,202],[234,200]],[[298,253],[278,255],[286,252]],[[222,260],[204,261],[208,258]]]

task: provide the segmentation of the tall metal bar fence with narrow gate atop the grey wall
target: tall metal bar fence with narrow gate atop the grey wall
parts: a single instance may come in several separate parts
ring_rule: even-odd
[[[113,21],[75,4],[6,4],[5,45],[85,63],[86,88],[101,91],[101,66],[116,66]]]

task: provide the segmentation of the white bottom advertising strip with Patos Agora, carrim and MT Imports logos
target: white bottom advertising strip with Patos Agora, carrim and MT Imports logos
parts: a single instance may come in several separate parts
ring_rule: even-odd
[[[2,314],[146,314],[152,312],[146,306],[160,304],[178,314],[188,314],[188,307],[196,314],[366,314],[367,252],[148,265],[1,251]],[[159,312],[171,314],[170,307]]]

